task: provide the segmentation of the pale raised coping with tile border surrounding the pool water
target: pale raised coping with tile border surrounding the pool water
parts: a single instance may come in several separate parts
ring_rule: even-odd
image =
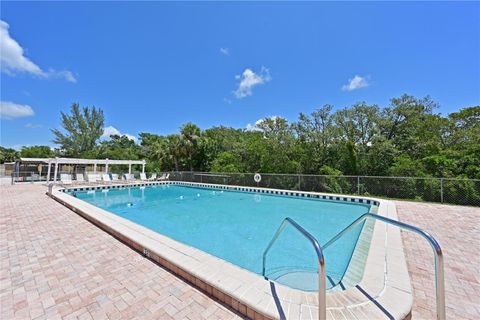
[[[175,241],[66,193],[163,184],[371,204],[378,215],[398,220],[397,210],[392,201],[316,192],[183,181],[67,187],[52,190],[50,196],[53,199],[172,273],[252,319],[318,319],[318,294],[317,292],[292,289],[265,280],[260,275]],[[362,241],[363,234],[364,232],[362,232],[355,249],[355,254],[357,251],[363,251],[366,254],[365,267],[362,270],[363,276],[354,287],[346,290],[327,291],[327,318],[409,319],[413,293],[400,230],[395,226],[376,221],[373,224],[369,246],[368,241]],[[352,260],[356,259],[355,254]],[[328,261],[326,263],[328,264]],[[355,269],[355,266],[353,268]],[[348,277],[347,272],[346,278]]]

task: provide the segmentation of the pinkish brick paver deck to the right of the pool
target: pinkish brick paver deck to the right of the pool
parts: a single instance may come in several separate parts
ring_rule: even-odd
[[[432,234],[445,259],[447,319],[480,319],[480,208],[396,201],[401,221]],[[413,319],[436,319],[433,253],[402,232],[414,289]]]

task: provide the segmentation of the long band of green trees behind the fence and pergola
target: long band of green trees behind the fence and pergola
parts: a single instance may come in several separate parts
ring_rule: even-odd
[[[288,122],[265,118],[252,129],[194,123],[176,134],[140,133],[99,141],[100,109],[71,106],[61,114],[63,131],[52,130],[54,155],[146,159],[148,171],[269,172],[480,178],[480,106],[447,116],[430,97],[402,95],[385,107],[359,102],[324,105]],[[334,109],[336,111],[334,111]],[[14,151],[14,150],[13,150]],[[16,155],[0,149],[2,161]],[[24,148],[22,156],[52,156],[49,147]],[[18,156],[18,155],[17,155]]]

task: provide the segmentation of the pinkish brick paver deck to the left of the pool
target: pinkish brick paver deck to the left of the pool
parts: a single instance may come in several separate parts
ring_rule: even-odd
[[[0,186],[0,319],[239,318],[45,191]]]

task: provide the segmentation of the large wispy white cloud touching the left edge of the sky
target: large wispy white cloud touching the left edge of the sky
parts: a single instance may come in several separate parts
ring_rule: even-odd
[[[63,78],[68,82],[77,82],[77,79],[70,71],[56,71],[54,69],[44,71],[29,58],[25,57],[23,48],[15,39],[10,37],[8,29],[8,23],[0,20],[0,51],[2,52],[0,64],[2,72],[11,76],[24,72],[45,79]]]

